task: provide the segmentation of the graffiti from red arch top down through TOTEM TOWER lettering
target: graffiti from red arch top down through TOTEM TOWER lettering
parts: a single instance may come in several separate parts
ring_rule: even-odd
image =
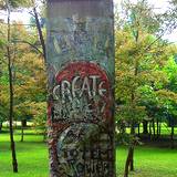
[[[71,62],[56,74],[49,116],[59,176],[107,177],[113,173],[113,135],[107,126],[112,106],[110,80],[97,64]]]

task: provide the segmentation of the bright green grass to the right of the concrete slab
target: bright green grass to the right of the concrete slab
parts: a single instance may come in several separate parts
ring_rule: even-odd
[[[116,149],[117,177],[123,177],[127,149]],[[135,149],[135,171],[129,177],[177,177],[177,149],[140,146]]]

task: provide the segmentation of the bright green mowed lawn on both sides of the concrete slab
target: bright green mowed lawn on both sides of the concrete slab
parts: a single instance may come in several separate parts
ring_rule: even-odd
[[[11,170],[9,134],[0,133],[0,177],[49,177],[48,148],[43,136],[25,131],[24,143],[20,142],[20,132],[15,131],[19,173]],[[127,149],[117,147],[117,176],[123,177]],[[137,147],[135,152],[135,173],[131,177],[177,177],[177,149]]]

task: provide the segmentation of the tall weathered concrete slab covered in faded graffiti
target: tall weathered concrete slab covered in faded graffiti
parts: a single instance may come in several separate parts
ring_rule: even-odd
[[[112,0],[48,1],[51,177],[113,177]]]

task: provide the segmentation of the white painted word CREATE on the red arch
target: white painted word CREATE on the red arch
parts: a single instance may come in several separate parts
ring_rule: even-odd
[[[55,100],[62,97],[62,101],[66,98],[72,101],[74,97],[82,97],[83,94],[87,94],[90,98],[94,96],[105,96],[105,81],[101,81],[98,75],[90,75],[85,77],[75,76],[70,82],[63,80],[53,88],[53,95]]]

